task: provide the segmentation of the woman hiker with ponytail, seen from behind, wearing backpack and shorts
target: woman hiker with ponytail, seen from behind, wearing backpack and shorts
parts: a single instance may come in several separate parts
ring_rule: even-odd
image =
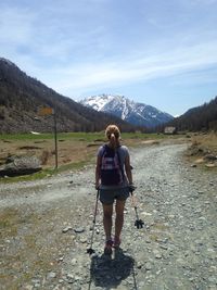
[[[99,190],[103,206],[103,226],[105,232],[104,254],[112,254],[112,247],[120,244],[124,224],[125,202],[132,185],[129,151],[120,146],[120,131],[116,125],[105,129],[107,143],[98,151],[95,166],[95,189]],[[116,202],[115,202],[116,201]],[[115,232],[112,238],[113,204],[115,202]]]

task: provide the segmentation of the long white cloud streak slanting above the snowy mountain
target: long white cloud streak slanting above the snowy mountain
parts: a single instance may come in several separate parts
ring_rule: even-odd
[[[66,94],[102,86],[116,86],[173,76],[217,64],[217,41],[179,48],[151,56],[123,58],[101,63],[68,65],[53,71],[51,86]],[[62,77],[60,77],[62,76]],[[60,78],[59,81],[56,81]]]

